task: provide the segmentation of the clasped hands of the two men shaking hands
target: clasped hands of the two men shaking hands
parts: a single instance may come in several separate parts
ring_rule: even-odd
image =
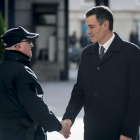
[[[72,125],[72,121],[69,119],[65,119],[64,121],[63,120],[61,121],[61,124],[62,124],[62,129],[59,133],[62,134],[65,137],[65,139],[67,139],[70,137],[71,134],[70,128]]]

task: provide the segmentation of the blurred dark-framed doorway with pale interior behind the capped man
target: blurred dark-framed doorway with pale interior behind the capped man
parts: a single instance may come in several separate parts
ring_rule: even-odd
[[[33,4],[34,31],[40,34],[35,40],[36,60],[57,62],[57,10],[58,4]]]

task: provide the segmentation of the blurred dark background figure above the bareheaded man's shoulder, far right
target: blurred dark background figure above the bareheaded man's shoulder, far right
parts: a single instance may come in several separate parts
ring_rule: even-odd
[[[140,47],[140,42],[139,42],[139,39],[138,39],[138,33],[137,32],[132,31],[130,33],[129,41],[136,44],[138,47]]]

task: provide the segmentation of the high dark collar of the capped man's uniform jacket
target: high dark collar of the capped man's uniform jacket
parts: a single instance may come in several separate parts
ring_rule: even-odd
[[[4,60],[14,60],[30,67],[31,58],[22,52],[15,50],[5,50]]]

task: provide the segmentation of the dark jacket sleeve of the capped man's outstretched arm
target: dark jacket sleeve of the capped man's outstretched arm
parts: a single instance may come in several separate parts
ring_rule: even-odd
[[[34,74],[28,71],[20,72],[17,79],[17,93],[20,104],[32,120],[49,132],[62,129],[61,123],[44,103],[42,88]]]

